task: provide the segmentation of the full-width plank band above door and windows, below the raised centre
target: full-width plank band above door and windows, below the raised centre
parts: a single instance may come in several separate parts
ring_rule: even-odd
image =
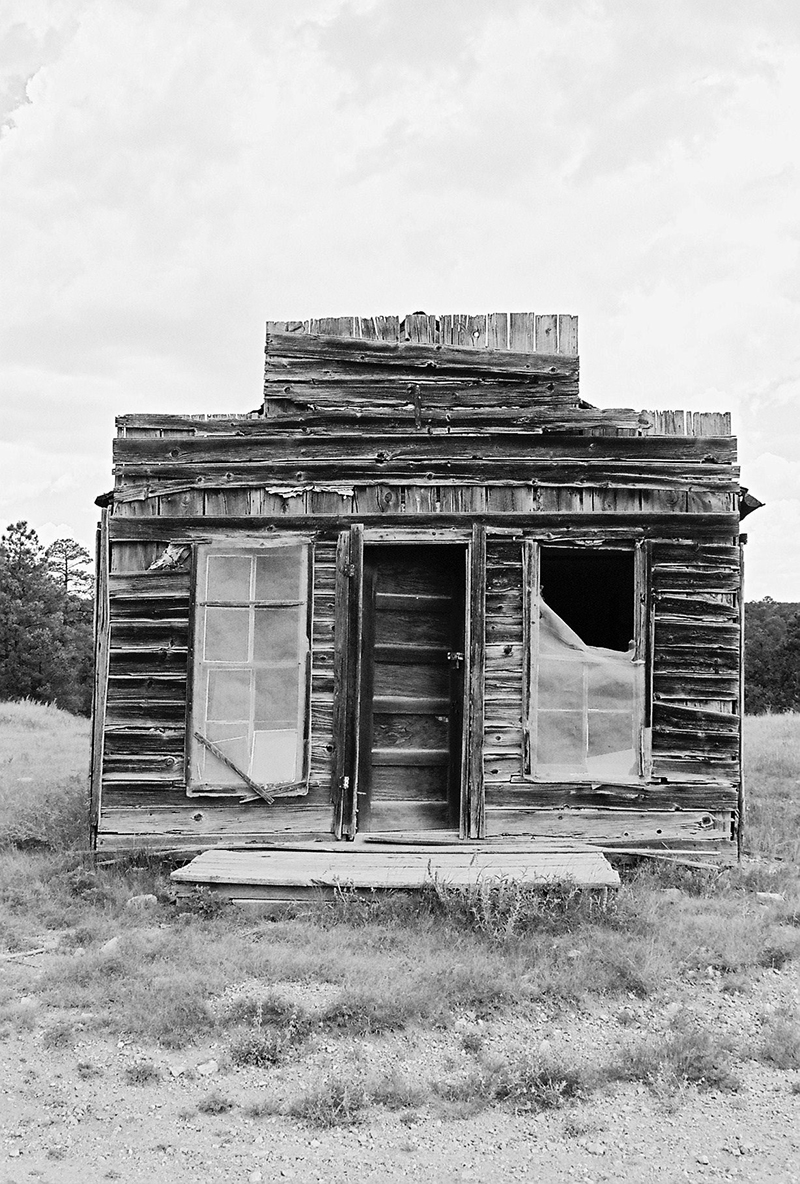
[[[144,417],[137,417],[140,420]],[[370,431],[295,436],[258,422],[185,438],[121,425],[115,519],[736,513],[730,437]],[[130,430],[135,435],[130,435]],[[157,425],[153,431],[157,432]],[[195,429],[196,431],[196,429]],[[330,525],[334,525],[333,522]],[[587,525],[592,525],[587,520]]]

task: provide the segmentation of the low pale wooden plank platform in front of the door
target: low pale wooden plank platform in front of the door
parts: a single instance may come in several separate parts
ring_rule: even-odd
[[[204,887],[231,900],[302,900],[342,888],[414,890],[434,877],[453,886],[502,879],[619,886],[601,851],[559,841],[392,842],[370,836],[262,850],[214,848],[172,874],[179,895]]]

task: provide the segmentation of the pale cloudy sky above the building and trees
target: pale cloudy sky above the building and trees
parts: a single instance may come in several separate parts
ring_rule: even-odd
[[[576,313],[589,403],[734,412],[800,601],[796,0],[2,0],[0,133],[1,525],[91,547],[266,320]]]

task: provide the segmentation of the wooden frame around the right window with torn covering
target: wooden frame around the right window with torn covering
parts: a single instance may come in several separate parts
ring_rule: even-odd
[[[536,770],[538,614],[534,606],[541,597],[541,547],[561,547],[570,551],[633,552],[633,661],[641,663],[644,677],[634,683],[634,709],[638,715],[634,753],[637,772],[627,778],[609,778],[613,784],[643,785],[652,779],[650,726],[652,702],[652,638],[650,628],[650,543],[643,539],[538,539],[522,541],[523,587],[523,687],[522,687],[522,765],[527,779],[537,785],[575,783],[599,784],[596,777],[570,773],[567,778],[544,777]]]

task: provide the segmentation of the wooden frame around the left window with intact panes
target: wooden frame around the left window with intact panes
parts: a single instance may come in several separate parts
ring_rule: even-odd
[[[246,798],[246,800],[266,800],[266,798],[273,797],[304,797],[309,791],[309,778],[310,778],[310,738],[311,738],[311,664],[312,664],[312,623],[314,623],[314,540],[307,534],[282,534],[278,538],[264,539],[263,536],[243,536],[243,538],[225,538],[225,539],[212,539],[198,543],[193,551],[192,561],[192,601],[191,601],[191,629],[189,629],[189,652],[188,652],[188,668],[187,668],[187,704],[186,704],[186,753],[185,753],[185,785],[186,794],[189,798],[207,798],[207,797],[227,797],[234,799]],[[270,781],[270,783],[258,783],[258,789],[264,790],[266,797],[260,798],[258,793],[243,780],[240,784],[236,781],[211,781],[204,780],[199,781],[194,774],[193,770],[195,766],[195,757],[198,748],[200,747],[200,741],[195,739],[195,732],[202,732],[207,723],[206,720],[206,704],[202,695],[202,688],[205,686],[205,673],[208,669],[208,664],[204,658],[204,624],[205,624],[205,609],[208,605],[206,600],[205,587],[200,587],[201,580],[207,579],[207,558],[231,555],[236,556],[237,553],[240,555],[246,554],[249,558],[258,558],[269,551],[283,549],[288,547],[302,547],[305,552],[305,580],[303,581],[303,591],[305,597],[305,662],[304,668],[301,668],[301,680],[303,686],[301,687],[301,695],[298,701],[303,704],[303,719],[302,726],[298,727],[298,745],[301,746],[301,777],[297,780],[291,781]],[[302,601],[301,601],[302,603]],[[213,605],[213,601],[212,601]],[[254,612],[259,607],[259,601],[253,597],[247,601],[243,601],[243,607],[246,606],[251,612]],[[265,603],[265,607],[270,606],[270,603]],[[232,667],[237,663],[231,663]],[[258,669],[256,663],[250,659],[246,664],[243,663],[244,669],[254,670]],[[252,701],[251,701],[252,706]],[[298,720],[298,723],[301,721]],[[252,729],[253,720],[250,720],[250,728]]]

